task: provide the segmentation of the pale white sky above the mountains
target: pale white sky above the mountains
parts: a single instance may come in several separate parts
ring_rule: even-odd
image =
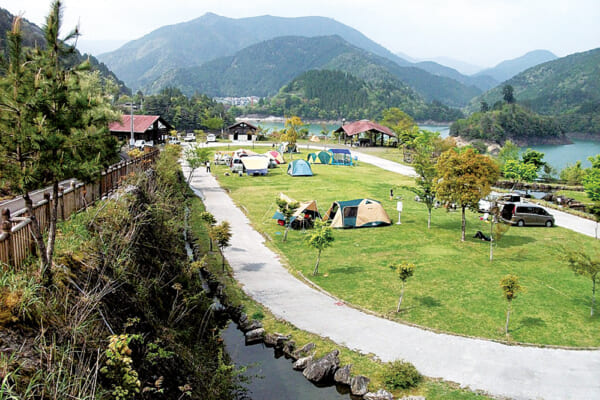
[[[78,48],[114,50],[164,25],[213,12],[230,18],[324,16],[392,52],[495,66],[531,50],[559,57],[600,47],[600,0],[64,0],[64,32],[79,23]],[[50,0],[0,0],[42,25]]]

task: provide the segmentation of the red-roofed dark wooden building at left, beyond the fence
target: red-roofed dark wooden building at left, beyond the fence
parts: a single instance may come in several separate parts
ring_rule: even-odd
[[[113,122],[108,126],[110,133],[117,136],[120,141],[129,141],[131,138],[131,115],[123,115],[121,121]],[[173,126],[158,115],[134,115],[133,133],[135,140],[152,140],[164,143]]]

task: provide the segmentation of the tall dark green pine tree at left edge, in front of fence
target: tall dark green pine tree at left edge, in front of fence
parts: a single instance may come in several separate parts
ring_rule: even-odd
[[[10,102],[17,106],[26,104],[27,111],[16,118],[24,123],[10,129],[15,135],[16,146],[9,145],[2,152],[7,155],[21,153],[13,158],[19,161],[15,164],[17,168],[12,166],[8,178],[11,186],[21,188],[30,215],[33,215],[33,205],[29,191],[33,186],[50,185],[52,198],[58,199],[60,181],[71,178],[90,181],[103,167],[114,162],[118,154],[116,140],[107,129],[109,122],[117,120],[118,115],[111,109],[99,76],[87,72],[88,61],[75,68],[65,67],[66,58],[75,51],[68,43],[79,33],[75,29],[60,39],[61,23],[62,3],[54,1],[43,28],[46,47],[36,48],[26,62],[18,22],[8,38],[11,73],[2,78],[5,83],[2,86],[3,89],[12,87],[16,92],[8,94],[2,90],[0,96],[5,104],[9,101],[4,100],[11,98]],[[27,69],[31,70],[28,72]],[[31,72],[35,73],[33,81],[30,80]],[[25,141],[29,141],[26,148],[21,146]],[[17,170],[20,172],[16,173]],[[39,225],[32,218],[40,272],[46,283],[51,279],[57,221],[58,201],[54,201],[44,243]]]

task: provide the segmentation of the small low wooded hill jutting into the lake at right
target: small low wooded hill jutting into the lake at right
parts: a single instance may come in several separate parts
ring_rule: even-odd
[[[450,127],[451,136],[520,145],[568,143],[557,118],[539,115],[518,104],[497,104],[494,110],[476,112]]]

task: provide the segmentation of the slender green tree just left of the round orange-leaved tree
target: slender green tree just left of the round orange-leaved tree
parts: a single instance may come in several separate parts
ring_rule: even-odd
[[[439,140],[439,133],[422,131],[421,135],[414,141],[414,158],[412,166],[417,173],[415,177],[415,186],[407,187],[427,206],[427,229],[431,228],[431,210],[435,204],[435,183],[437,181],[436,163],[436,145],[442,142]]]

